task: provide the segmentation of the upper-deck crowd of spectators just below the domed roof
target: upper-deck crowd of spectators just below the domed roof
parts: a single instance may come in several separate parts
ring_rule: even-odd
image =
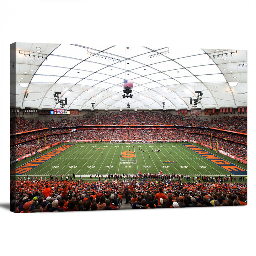
[[[206,117],[174,115],[166,112],[88,113],[82,117],[58,117],[57,120],[40,121],[35,118],[16,118],[16,133],[45,127],[81,127],[87,125],[175,125],[214,127],[247,133],[247,116]],[[11,118],[14,127],[14,118]],[[11,134],[14,130],[11,130]]]

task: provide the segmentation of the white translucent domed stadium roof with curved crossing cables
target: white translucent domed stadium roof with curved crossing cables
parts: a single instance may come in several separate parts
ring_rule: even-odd
[[[21,52],[36,47],[34,43],[18,45]],[[46,44],[42,53],[50,54],[47,60],[36,59],[31,65],[16,49],[16,102],[20,106],[56,107],[53,94],[60,91],[68,98],[70,108],[90,109],[91,101],[97,104],[96,109],[126,108],[124,79],[133,79],[131,109],[159,109],[162,101],[166,109],[190,108],[190,97],[196,97],[197,90],[203,92],[198,105],[202,108],[226,107],[231,101],[232,106],[247,105],[246,51],[238,50],[233,57],[217,60],[209,59],[202,49]],[[98,57],[94,55],[97,53]],[[26,90],[29,95],[23,102]]]

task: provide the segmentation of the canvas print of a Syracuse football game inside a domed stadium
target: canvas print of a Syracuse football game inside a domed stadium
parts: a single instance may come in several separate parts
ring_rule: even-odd
[[[247,205],[246,50],[10,52],[12,212]]]

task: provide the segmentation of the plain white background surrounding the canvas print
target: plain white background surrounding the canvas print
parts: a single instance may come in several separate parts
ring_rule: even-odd
[[[0,255],[256,255],[255,1],[0,1]],[[246,207],[13,214],[13,42],[248,50]]]

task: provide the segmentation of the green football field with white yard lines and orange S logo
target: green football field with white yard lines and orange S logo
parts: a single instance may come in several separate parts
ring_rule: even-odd
[[[183,174],[190,175],[191,178],[197,175],[229,176],[236,174],[240,176],[238,173],[226,171],[223,167],[186,148],[183,144],[190,143],[75,143],[49,160],[38,163],[36,167],[33,166],[32,170],[23,172],[22,175],[52,175],[54,178],[56,175],[59,178],[60,175],[63,175],[65,178],[68,174],[72,176],[74,172],[76,178],[80,178],[82,175],[83,180],[89,179],[90,174],[95,177],[95,173],[103,174],[105,178],[108,174],[137,174],[138,171],[151,174],[162,171],[163,174]],[[63,145],[65,144],[61,146]],[[197,144],[195,145],[198,147]],[[16,168],[27,165],[29,162],[32,163],[32,160],[38,160],[61,146],[45,151],[42,155],[27,158],[26,161],[19,161]],[[209,152],[209,149],[201,146],[200,148]],[[215,155],[215,151],[210,150],[210,152]],[[247,166],[244,164],[219,153],[218,156],[229,161],[231,165],[244,169],[242,174],[247,175]],[[21,174],[16,172],[16,175]]]

